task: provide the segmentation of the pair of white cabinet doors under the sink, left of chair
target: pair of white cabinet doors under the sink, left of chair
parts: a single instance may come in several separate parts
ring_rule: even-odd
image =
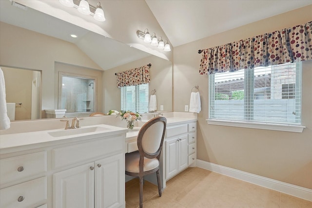
[[[54,208],[119,208],[124,204],[124,154],[53,174]]]

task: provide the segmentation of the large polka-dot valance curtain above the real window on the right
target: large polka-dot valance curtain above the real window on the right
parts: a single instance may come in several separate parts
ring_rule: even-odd
[[[199,74],[312,59],[312,21],[203,50]]]

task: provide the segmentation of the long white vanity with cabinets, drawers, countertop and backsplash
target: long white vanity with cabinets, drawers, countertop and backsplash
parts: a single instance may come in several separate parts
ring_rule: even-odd
[[[197,120],[195,113],[164,116],[163,189],[166,180],[195,165]],[[144,120],[130,132],[116,116],[86,117],[81,129],[72,130],[59,119],[23,122],[1,131],[1,208],[125,207],[124,155],[136,151]],[[24,132],[15,131],[20,126]]]

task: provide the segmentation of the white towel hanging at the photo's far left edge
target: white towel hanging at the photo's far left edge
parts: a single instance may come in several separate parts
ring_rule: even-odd
[[[14,106],[15,107],[15,106]],[[0,68],[0,129],[9,129],[11,122],[6,113],[6,96],[5,96],[5,82],[2,69]]]

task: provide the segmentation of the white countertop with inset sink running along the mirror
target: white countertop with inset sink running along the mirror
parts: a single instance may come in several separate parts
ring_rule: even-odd
[[[190,117],[168,117],[167,118],[167,126],[177,125],[185,122],[193,122],[196,121],[197,118]],[[139,127],[135,127],[132,131],[128,132],[128,129],[98,124],[92,126],[83,126],[81,129],[72,129],[72,130],[64,130],[64,129],[54,129],[54,130],[45,130],[45,131],[35,131],[35,132],[21,132],[21,133],[10,133],[10,134],[1,134],[0,135],[0,151],[1,153],[9,152],[12,149],[17,151],[19,150],[27,150],[45,147],[54,144],[63,144],[80,140],[87,140],[98,138],[101,136],[110,136],[120,133],[126,133],[126,141],[131,141],[137,139],[137,134],[141,128],[141,126],[147,122],[139,121]],[[99,127],[94,132],[83,132],[88,128]],[[64,131],[64,134],[62,135]],[[71,132],[79,132],[71,134]],[[82,131],[82,132],[81,132]],[[53,132],[56,135],[53,136]],[[51,135],[52,134],[52,135]]]

